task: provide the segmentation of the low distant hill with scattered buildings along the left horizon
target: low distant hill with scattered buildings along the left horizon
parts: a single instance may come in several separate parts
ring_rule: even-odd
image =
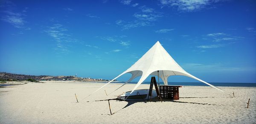
[[[104,79],[91,79],[91,78],[80,78],[75,76],[34,76],[34,75],[24,75],[24,74],[15,74],[15,73],[6,73],[0,72],[0,80],[9,80],[9,81],[24,81],[28,79],[35,80],[81,80],[81,81],[107,81]]]

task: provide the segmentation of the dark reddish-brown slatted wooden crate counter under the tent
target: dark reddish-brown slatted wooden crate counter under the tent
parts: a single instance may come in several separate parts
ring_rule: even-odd
[[[160,85],[161,97],[166,99],[179,100],[179,87],[181,86]]]

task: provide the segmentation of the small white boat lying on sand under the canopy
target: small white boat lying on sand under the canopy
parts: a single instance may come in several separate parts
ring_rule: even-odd
[[[117,99],[125,100],[128,97],[126,100],[147,100],[151,98],[151,96],[148,97],[148,92],[149,89],[134,90],[132,93],[128,91],[117,96]],[[152,90],[152,98],[154,97],[157,97],[156,90]]]

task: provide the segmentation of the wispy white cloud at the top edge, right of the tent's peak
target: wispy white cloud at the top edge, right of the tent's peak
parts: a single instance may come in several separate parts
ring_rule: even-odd
[[[159,0],[162,7],[174,7],[178,11],[198,11],[222,0]]]

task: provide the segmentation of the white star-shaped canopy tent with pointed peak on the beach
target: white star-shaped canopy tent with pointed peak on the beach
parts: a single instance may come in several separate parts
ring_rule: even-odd
[[[159,72],[157,72],[157,71],[159,71]],[[155,75],[155,76],[159,75],[159,77],[163,80],[165,85],[168,85],[167,79],[168,79],[169,76],[173,76],[173,75],[188,76],[190,78],[196,79],[200,82],[203,82],[203,83],[205,83],[205,84],[207,84],[211,87],[214,87],[214,88],[224,92],[223,90],[221,90],[221,89],[219,89],[219,88],[217,88],[217,87],[215,87],[215,86],[213,86],[213,85],[211,85],[207,82],[204,82],[203,80],[198,79],[197,77],[192,76],[190,73],[187,73],[185,70],[183,70],[183,68],[181,68],[180,65],[178,65],[177,62],[175,62],[174,59],[172,59],[172,56],[170,56],[167,53],[167,51],[163,48],[163,46],[160,44],[159,41],[157,41],[137,62],[135,62],[134,65],[132,65],[127,70],[125,70],[119,76],[122,76],[125,73],[131,73],[132,74],[131,78],[127,82],[125,82],[125,84],[130,82],[131,80],[135,79],[136,77],[141,76],[139,82],[134,87],[132,92],[134,90],[136,90],[137,87],[149,75]],[[117,79],[119,76],[117,76],[113,80]],[[113,82],[113,80],[111,80],[110,82],[108,82],[107,84],[105,84],[102,87],[105,87],[109,83]],[[125,84],[123,84],[123,85],[125,85]],[[100,87],[99,89],[101,89],[102,87]],[[119,88],[117,88],[117,89],[119,89]],[[98,90],[96,90],[96,91],[98,91]],[[93,93],[95,93],[95,92],[93,92]]]

